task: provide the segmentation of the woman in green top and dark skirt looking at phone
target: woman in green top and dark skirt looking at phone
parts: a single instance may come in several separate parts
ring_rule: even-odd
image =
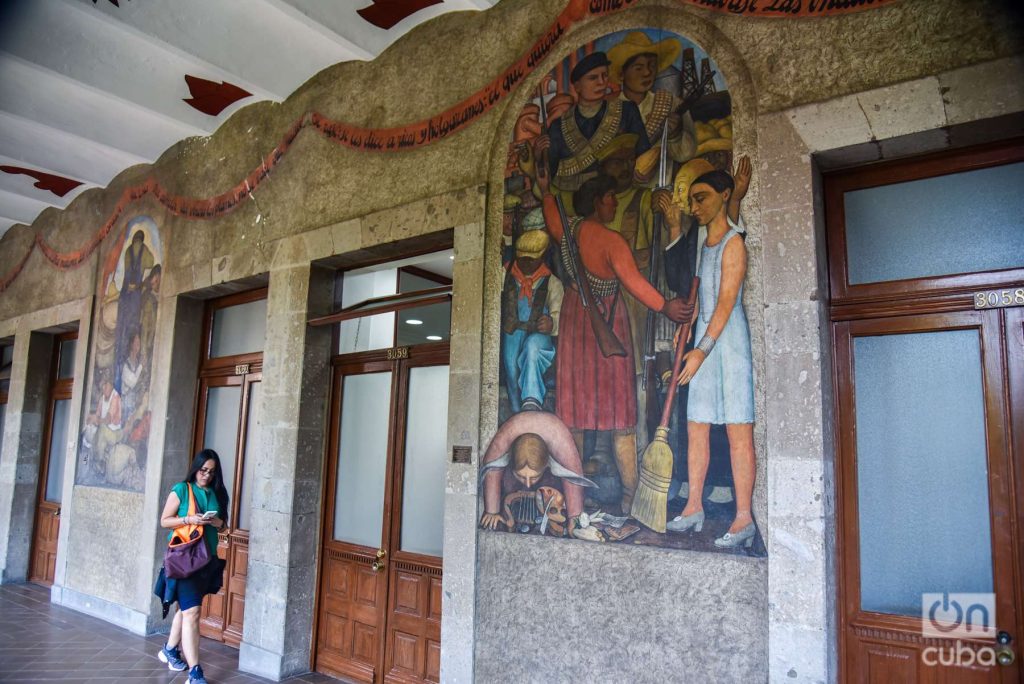
[[[188,487],[196,498],[196,513],[190,516]],[[220,457],[212,448],[205,448],[193,459],[184,481],[171,488],[160,516],[160,526],[165,529],[203,524],[203,541],[210,551],[210,562],[194,574],[183,580],[167,580],[161,569],[157,580],[156,593],[164,604],[164,616],[171,603],[178,603],[167,644],[157,655],[168,670],[181,672],[187,668],[189,684],[207,684],[199,664],[199,613],[203,597],[216,594],[223,583],[224,563],[217,558],[217,532],[227,524],[227,503]],[[214,515],[204,518],[207,512]]]

